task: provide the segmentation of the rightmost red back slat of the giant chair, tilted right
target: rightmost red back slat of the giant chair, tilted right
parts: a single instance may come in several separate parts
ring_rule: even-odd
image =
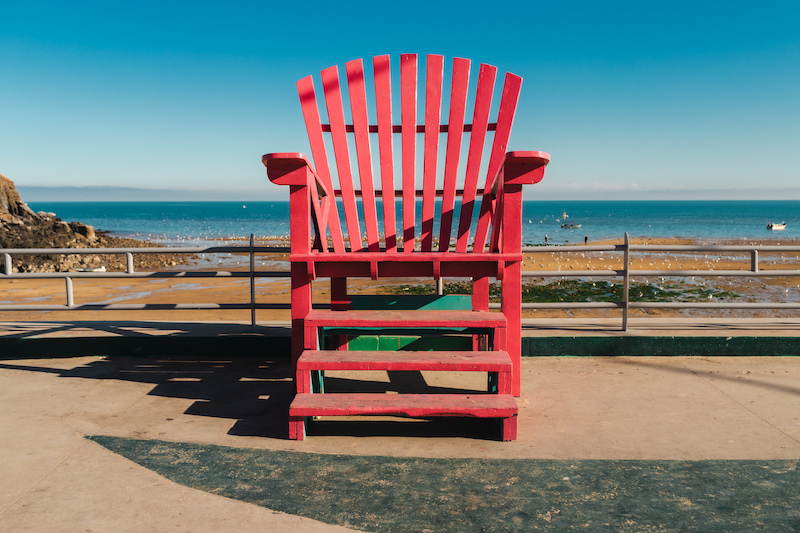
[[[498,197],[497,180],[498,172],[505,159],[508,149],[508,139],[511,136],[511,126],[514,122],[514,112],[519,101],[519,92],[522,88],[522,78],[514,74],[506,74],[503,83],[503,96],[500,98],[500,109],[497,112],[497,130],[494,133],[492,151],[489,155],[489,165],[486,173],[486,184],[483,188],[483,200],[478,218],[478,227],[475,230],[474,252],[483,252],[486,247],[486,237],[489,225],[494,218],[495,202]],[[501,192],[501,191],[500,191]],[[485,207],[484,207],[485,206]],[[497,228],[499,231],[499,228]],[[495,243],[496,244],[496,241]],[[490,248],[490,252],[496,247]]]

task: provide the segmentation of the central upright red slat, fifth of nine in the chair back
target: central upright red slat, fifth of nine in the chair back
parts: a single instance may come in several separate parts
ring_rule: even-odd
[[[417,56],[400,56],[400,114],[403,162],[403,252],[411,253],[415,247],[417,164]]]

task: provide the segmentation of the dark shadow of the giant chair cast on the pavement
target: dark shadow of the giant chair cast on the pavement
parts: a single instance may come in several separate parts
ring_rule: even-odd
[[[9,361],[8,358],[0,358]],[[37,359],[38,360],[38,359]],[[49,373],[68,379],[118,380],[151,384],[148,396],[191,400],[182,414],[233,421],[228,435],[288,439],[288,411],[294,394],[288,354],[265,357],[192,358],[178,354],[149,357],[107,356],[72,369],[0,362],[0,369]],[[390,372],[388,381],[327,377],[331,392],[474,393],[474,390],[430,386],[419,372]],[[147,408],[147,407],[144,407]],[[177,414],[177,413],[176,413]],[[160,417],[163,412],[154,416]],[[374,417],[315,420],[309,435],[466,437],[492,439],[494,420]]]

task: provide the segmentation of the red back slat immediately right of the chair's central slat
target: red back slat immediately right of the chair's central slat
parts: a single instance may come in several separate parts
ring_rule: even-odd
[[[436,164],[439,157],[439,121],[442,110],[444,57],[427,56],[425,73],[425,153],[422,158],[422,225],[420,249],[431,251],[436,207]]]

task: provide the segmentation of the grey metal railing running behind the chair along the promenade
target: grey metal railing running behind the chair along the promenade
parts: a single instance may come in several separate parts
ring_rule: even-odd
[[[623,244],[609,245],[569,245],[569,246],[526,246],[522,251],[528,254],[574,254],[577,252],[617,252],[622,253],[622,268],[606,270],[527,270],[522,272],[526,278],[602,278],[618,277],[622,279],[622,297],[612,302],[546,302],[523,303],[523,309],[620,309],[622,311],[622,329],[628,328],[628,314],[631,309],[800,309],[800,302],[632,302],[630,301],[631,280],[636,277],[800,277],[800,270],[763,270],[759,265],[761,254],[779,252],[800,253],[800,246],[779,245],[650,245],[631,244],[625,234]],[[134,310],[245,310],[251,312],[251,324],[256,325],[258,309],[290,309],[288,303],[257,303],[256,278],[288,278],[289,271],[263,271],[255,269],[255,255],[268,253],[288,254],[286,246],[255,246],[253,236],[247,246],[215,246],[215,247],[163,247],[163,248],[15,248],[0,249],[3,256],[2,279],[53,279],[62,278],[66,286],[65,305],[0,305],[0,311],[134,311]],[[633,253],[653,252],[712,252],[749,254],[750,268],[741,270],[664,270],[664,269],[631,269]],[[214,254],[235,253],[249,255],[247,271],[225,270],[189,270],[189,271],[154,271],[137,272],[133,266],[134,254]],[[34,272],[13,273],[13,255],[71,255],[124,254],[127,268],[125,272]],[[799,259],[800,260],[800,259]],[[191,304],[75,304],[73,279],[108,279],[108,278],[248,278],[250,280],[250,302],[248,303],[191,303]],[[437,283],[441,291],[441,282]],[[498,308],[499,304],[492,304]]]

